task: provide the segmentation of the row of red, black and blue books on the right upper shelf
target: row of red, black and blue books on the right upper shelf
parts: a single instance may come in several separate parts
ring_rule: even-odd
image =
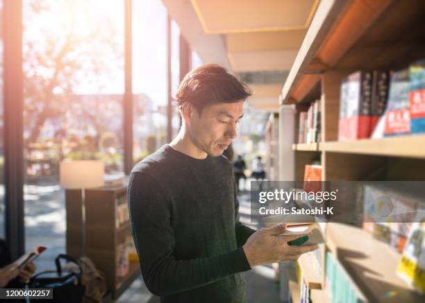
[[[425,60],[391,73],[356,71],[342,80],[338,140],[421,132],[425,132]]]

